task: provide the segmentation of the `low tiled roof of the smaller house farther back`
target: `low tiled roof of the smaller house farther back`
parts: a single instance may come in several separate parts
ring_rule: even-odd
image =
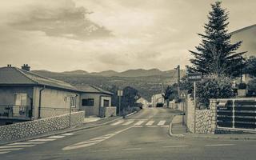
[[[86,93],[109,94],[109,95],[113,94],[109,91],[103,90],[102,88],[99,88],[93,85],[88,85],[88,84],[78,85],[77,88],[82,92],[86,92]]]

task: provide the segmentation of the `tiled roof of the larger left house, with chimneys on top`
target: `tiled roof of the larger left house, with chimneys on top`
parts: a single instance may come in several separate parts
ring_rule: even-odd
[[[59,89],[80,91],[69,83],[52,78],[46,78],[17,67],[0,68],[0,85],[42,85]]]

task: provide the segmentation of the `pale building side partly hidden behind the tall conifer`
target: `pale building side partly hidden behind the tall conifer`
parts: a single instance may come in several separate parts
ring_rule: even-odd
[[[232,34],[231,42],[242,41],[242,45],[238,49],[239,52],[247,51],[247,57],[256,56],[256,24],[246,26],[230,34]]]

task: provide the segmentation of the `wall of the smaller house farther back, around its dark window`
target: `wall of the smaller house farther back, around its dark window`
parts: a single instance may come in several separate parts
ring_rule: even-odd
[[[82,106],[82,99],[83,98],[93,98],[94,99],[94,106]],[[86,116],[90,115],[100,115],[100,106],[103,106],[104,99],[110,100],[110,106],[111,106],[111,97],[107,94],[97,94],[97,93],[83,93],[81,94],[80,98],[80,109],[86,111]]]

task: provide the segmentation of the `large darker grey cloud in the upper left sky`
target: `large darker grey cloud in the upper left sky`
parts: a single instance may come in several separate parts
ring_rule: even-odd
[[[76,7],[72,1],[62,0],[56,4],[48,0],[27,6],[26,12],[14,15],[17,18],[9,25],[19,30],[39,30],[47,36],[78,40],[113,36],[104,26],[86,18],[89,14],[85,7]]]

